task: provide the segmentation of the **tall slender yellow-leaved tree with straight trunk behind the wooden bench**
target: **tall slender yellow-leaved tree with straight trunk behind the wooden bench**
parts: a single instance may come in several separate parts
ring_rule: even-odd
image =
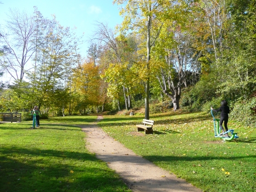
[[[140,32],[146,39],[144,46],[145,65],[147,78],[145,81],[145,118],[149,119],[149,70],[151,60],[151,48],[154,46],[156,39],[162,28],[163,21],[160,19],[163,10],[169,6],[169,1],[157,0],[115,0],[114,3],[124,4],[120,14],[124,17],[124,21],[120,26],[120,31],[124,34],[128,30]],[[157,25],[158,24],[158,25]]]

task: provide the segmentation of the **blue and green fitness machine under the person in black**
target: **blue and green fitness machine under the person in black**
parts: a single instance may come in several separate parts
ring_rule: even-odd
[[[210,110],[210,113],[213,116],[214,136],[215,137],[219,137],[219,138],[223,139],[224,141],[225,140],[232,140],[232,139],[237,139],[238,138],[237,133],[234,133],[234,129],[229,129],[229,131],[226,131],[225,133],[220,135],[220,131],[221,131],[220,130],[220,126],[219,126],[220,119],[214,117],[212,109]],[[225,137],[224,134],[226,134],[226,133],[230,133],[231,136],[230,137]]]

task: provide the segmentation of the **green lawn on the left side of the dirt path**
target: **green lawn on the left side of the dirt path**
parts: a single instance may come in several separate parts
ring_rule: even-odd
[[[0,125],[0,191],[130,191],[85,148],[75,125],[97,116],[67,116]]]

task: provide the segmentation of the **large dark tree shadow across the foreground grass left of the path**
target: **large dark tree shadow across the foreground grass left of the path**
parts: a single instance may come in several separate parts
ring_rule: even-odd
[[[0,191],[127,191],[93,154],[2,147],[0,162]]]

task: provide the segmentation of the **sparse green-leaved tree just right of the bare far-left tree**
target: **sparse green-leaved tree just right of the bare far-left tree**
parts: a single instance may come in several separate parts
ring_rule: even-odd
[[[43,105],[47,110],[51,107],[62,109],[64,114],[66,105],[55,101],[68,94],[66,83],[70,81],[70,71],[80,59],[77,54],[79,38],[69,27],[61,26],[55,17],[45,20],[44,24],[46,28],[40,35],[43,37],[38,38],[40,46],[37,47],[35,72],[28,77],[38,106]]]

